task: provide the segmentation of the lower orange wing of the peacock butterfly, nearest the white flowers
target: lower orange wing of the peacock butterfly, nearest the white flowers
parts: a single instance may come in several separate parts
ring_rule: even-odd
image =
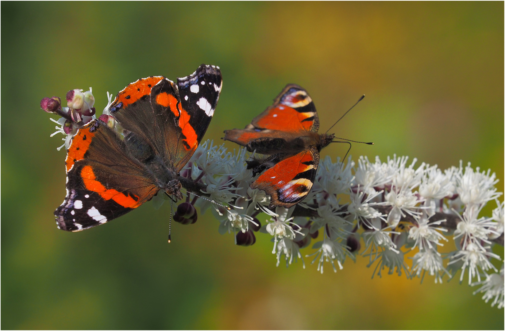
[[[299,152],[265,171],[251,184],[251,188],[270,194],[271,207],[292,207],[309,194],[316,179],[318,164],[319,152],[316,147]]]

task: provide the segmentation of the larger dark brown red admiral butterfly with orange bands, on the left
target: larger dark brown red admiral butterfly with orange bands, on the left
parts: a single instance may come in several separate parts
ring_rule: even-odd
[[[177,83],[163,76],[126,86],[109,107],[124,139],[93,120],[72,138],[67,195],[58,228],[81,231],[119,217],[160,189],[182,199],[179,171],[211,122],[222,88],[219,67],[201,65]]]

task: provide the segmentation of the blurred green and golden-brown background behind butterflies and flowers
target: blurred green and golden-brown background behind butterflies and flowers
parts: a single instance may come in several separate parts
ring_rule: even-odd
[[[92,86],[100,114],[107,91],[213,64],[224,89],[208,139],[244,127],[286,83],[309,91],[321,131],[366,94],[334,128],[375,142],[354,144],[355,160],[396,153],[445,169],[463,159],[496,172],[503,191],[502,2],[2,2],[1,13],[3,329],[503,329],[503,310],[465,283],[371,280],[363,257],[336,274],[310,258],[305,270],[275,267],[268,235],[234,246],[210,212],[173,224],[170,245],[168,204],[57,230],[65,153],[39,108]],[[336,145],[322,155],[342,157]]]

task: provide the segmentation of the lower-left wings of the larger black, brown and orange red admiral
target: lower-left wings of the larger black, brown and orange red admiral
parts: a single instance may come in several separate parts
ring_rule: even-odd
[[[119,217],[159,190],[145,168],[104,122],[93,120],[75,134],[65,160],[67,195],[55,210],[65,231],[81,231]]]

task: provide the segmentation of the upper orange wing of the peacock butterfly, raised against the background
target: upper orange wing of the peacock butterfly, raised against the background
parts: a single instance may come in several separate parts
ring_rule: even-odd
[[[225,131],[225,140],[242,146],[260,138],[293,139],[306,132],[317,132],[319,118],[316,106],[307,91],[299,85],[288,84],[274,99],[274,104],[252,119],[245,129]]]

